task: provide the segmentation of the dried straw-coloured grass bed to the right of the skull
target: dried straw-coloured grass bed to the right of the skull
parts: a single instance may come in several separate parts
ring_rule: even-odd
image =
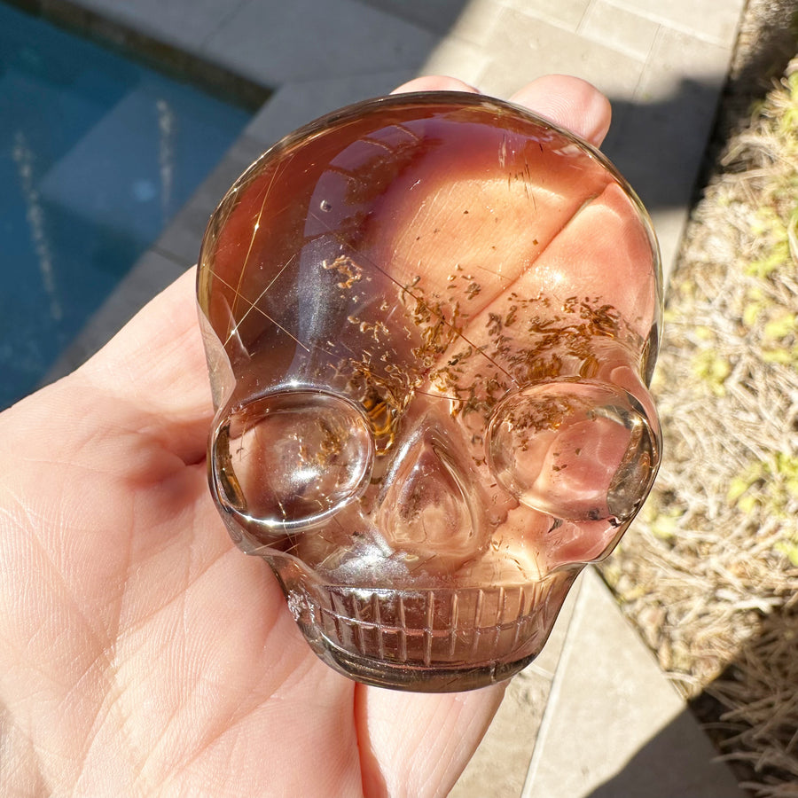
[[[671,281],[665,461],[603,573],[758,798],[798,796],[798,59],[732,137]]]

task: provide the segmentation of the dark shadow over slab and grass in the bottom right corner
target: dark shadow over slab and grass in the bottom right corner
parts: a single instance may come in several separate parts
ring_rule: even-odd
[[[751,795],[796,794],[783,792],[798,781],[796,685],[798,606],[793,606],[765,618],[716,682],[590,798],[732,798],[754,785],[758,791]],[[707,732],[706,746],[694,744],[694,720]],[[729,770],[691,767],[692,761],[720,762],[720,756]],[[688,786],[685,773],[702,778]]]

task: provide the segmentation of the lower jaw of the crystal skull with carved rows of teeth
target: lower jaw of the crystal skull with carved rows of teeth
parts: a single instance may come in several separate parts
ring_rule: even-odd
[[[317,656],[345,677],[411,692],[505,681],[536,658],[583,564],[488,587],[323,583],[290,555],[262,553]]]

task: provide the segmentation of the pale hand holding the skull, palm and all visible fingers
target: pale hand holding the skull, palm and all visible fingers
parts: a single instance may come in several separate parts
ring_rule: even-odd
[[[468,90],[427,77],[399,90]],[[599,145],[609,104],[512,98]],[[444,795],[503,685],[358,685],[301,637],[207,490],[193,270],[76,372],[0,415],[4,795]]]

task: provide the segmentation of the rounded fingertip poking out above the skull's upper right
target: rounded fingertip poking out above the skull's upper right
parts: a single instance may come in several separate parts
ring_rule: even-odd
[[[609,100],[591,83],[570,75],[538,78],[510,99],[597,147],[604,141],[612,120]]]

